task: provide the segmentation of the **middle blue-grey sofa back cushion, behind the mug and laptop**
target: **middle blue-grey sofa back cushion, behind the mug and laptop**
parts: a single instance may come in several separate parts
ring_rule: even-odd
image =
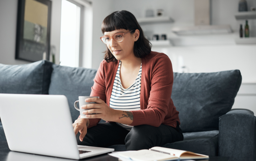
[[[74,108],[74,102],[78,100],[79,96],[90,96],[97,70],[61,65],[53,65],[52,67],[49,94],[67,97],[74,122],[79,116],[79,111]]]

